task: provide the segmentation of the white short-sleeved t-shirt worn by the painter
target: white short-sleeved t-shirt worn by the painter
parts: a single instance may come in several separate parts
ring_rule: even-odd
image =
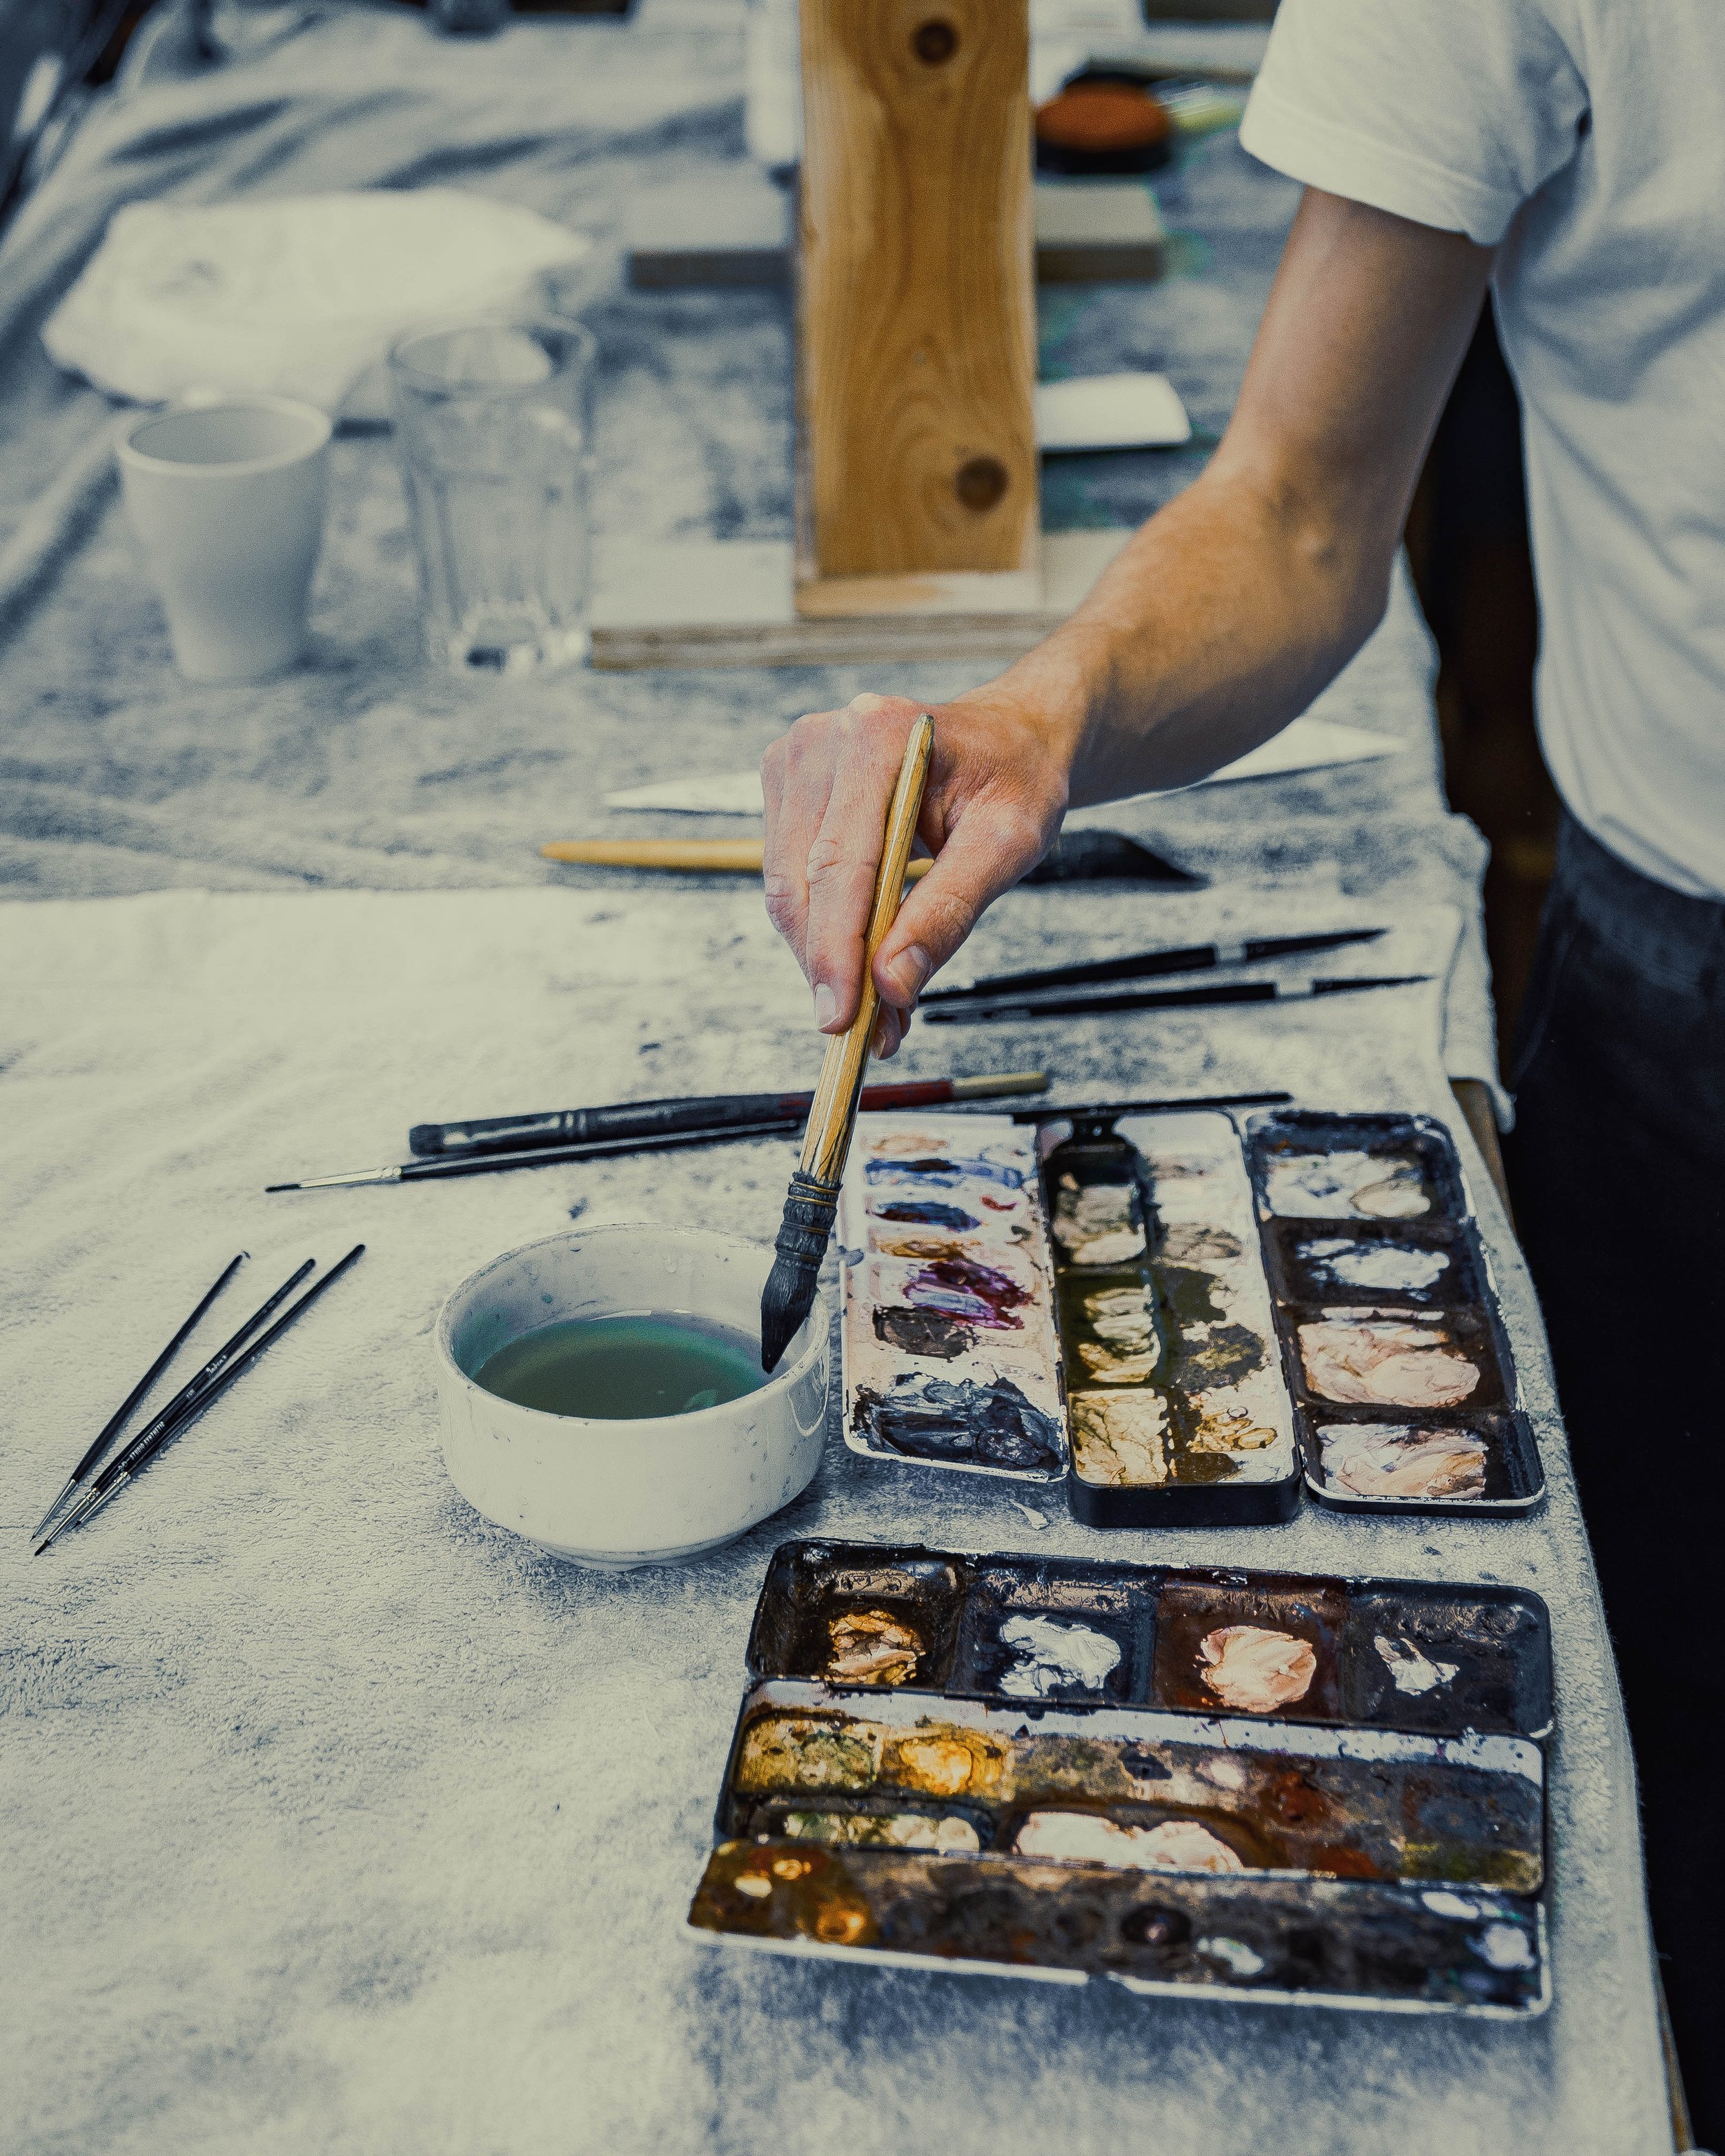
[[[1725,897],[1725,0],[1283,0],[1240,140],[1499,248],[1546,761]]]

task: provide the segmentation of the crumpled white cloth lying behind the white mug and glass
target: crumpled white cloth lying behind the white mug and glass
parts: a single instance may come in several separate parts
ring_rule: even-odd
[[[129,203],[41,336],[58,367],[134,403],[250,390],[336,412],[405,330],[530,306],[591,248],[459,188]]]

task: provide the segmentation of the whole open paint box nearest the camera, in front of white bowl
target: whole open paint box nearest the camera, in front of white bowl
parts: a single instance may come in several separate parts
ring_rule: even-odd
[[[1533,1595],[802,1542],[748,1667],[701,1936],[1546,2005]]]

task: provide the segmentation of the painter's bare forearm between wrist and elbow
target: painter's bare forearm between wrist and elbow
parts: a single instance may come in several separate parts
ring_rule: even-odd
[[[1348,664],[1382,619],[1393,548],[1393,528],[1343,535],[1212,466],[985,694],[1039,714],[1072,806],[1190,785]]]

